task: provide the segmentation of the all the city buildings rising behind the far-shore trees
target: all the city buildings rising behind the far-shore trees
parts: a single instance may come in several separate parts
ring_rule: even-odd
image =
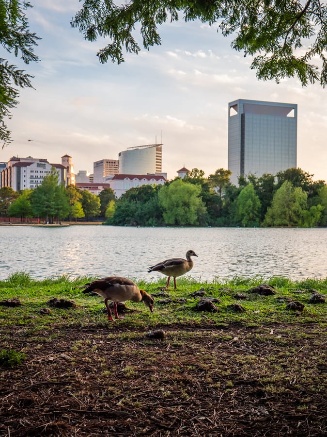
[[[230,102],[228,108],[228,169],[234,185],[239,176],[276,175],[296,168],[296,104],[239,99]],[[54,166],[60,174],[59,181],[66,186],[76,185],[93,194],[110,187],[119,198],[132,187],[163,185],[168,178],[162,168],[162,156],[163,143],[133,146],[120,151],[118,159],[94,161],[93,173],[75,171],[74,157],[68,154],[61,157],[60,164],[51,164],[45,158],[14,156],[7,163],[0,163],[1,186],[16,191],[35,188]],[[184,164],[176,169],[176,175],[182,178],[190,171]]]

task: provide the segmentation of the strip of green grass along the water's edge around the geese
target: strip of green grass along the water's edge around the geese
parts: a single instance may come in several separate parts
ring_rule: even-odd
[[[70,279],[62,275],[57,278],[47,278],[42,281],[33,280],[26,272],[17,272],[0,281],[1,300],[16,298],[21,302],[17,307],[0,306],[0,326],[25,326],[31,333],[47,329],[51,326],[80,325],[108,325],[105,305],[100,296],[90,296],[82,293],[80,286],[89,282],[92,277]],[[157,288],[165,286],[163,277],[156,283],[137,281],[140,288],[148,293],[158,292]],[[248,290],[259,284],[269,284],[275,287],[276,295],[260,296],[248,293]],[[235,276],[232,280],[215,278],[212,282],[195,281],[189,277],[177,280],[177,290],[170,288],[169,293],[173,300],[170,304],[160,304],[161,297],[155,298],[155,312],[150,313],[143,303],[128,302],[127,306],[137,310],[127,313],[125,319],[116,321],[120,326],[130,325],[140,328],[155,327],[158,325],[181,325],[240,323],[246,326],[266,325],[271,323],[307,323],[315,322],[326,324],[327,304],[309,304],[308,300],[312,289],[327,294],[327,279],[306,279],[291,281],[285,277],[242,278]],[[218,312],[195,311],[199,298],[190,296],[190,293],[203,288],[205,295],[218,298]],[[299,292],[301,291],[301,292]],[[248,294],[248,299],[237,300],[236,293]],[[51,308],[49,315],[39,313],[41,308],[48,307],[47,301],[51,298],[73,300],[77,307],[68,309]],[[279,302],[276,297],[290,297],[305,305],[302,313],[286,310],[286,302]],[[177,299],[186,299],[186,303],[179,303]],[[229,308],[232,303],[239,303],[245,309],[244,313],[234,313]]]

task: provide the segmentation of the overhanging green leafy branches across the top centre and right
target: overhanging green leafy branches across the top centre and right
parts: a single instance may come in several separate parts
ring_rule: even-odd
[[[136,27],[149,50],[161,44],[157,26],[181,16],[185,21],[199,19],[217,25],[223,36],[235,35],[233,49],[254,57],[250,68],[257,71],[258,79],[279,83],[297,75],[303,86],[315,81],[327,84],[327,6],[320,0],[305,4],[293,0],[130,0],[122,5],[84,0],[71,25],[89,41],[109,37],[109,44],[97,56],[101,63],[111,59],[120,64],[124,47],[126,52],[140,52],[138,37],[133,36]],[[320,70],[311,63],[319,58]]]

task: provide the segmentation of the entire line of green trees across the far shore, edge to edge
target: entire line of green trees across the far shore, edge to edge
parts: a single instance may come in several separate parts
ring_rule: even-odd
[[[184,179],[131,188],[116,199],[58,185],[53,171],[38,187],[0,188],[0,216],[63,219],[103,218],[119,226],[327,226],[327,185],[300,168],[230,182],[223,168],[209,177],[193,168]]]

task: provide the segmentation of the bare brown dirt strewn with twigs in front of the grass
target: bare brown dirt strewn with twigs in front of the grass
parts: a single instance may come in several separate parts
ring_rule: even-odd
[[[120,323],[0,332],[0,436],[326,436],[326,341],[315,324]],[[4,344],[6,343],[6,344]]]

